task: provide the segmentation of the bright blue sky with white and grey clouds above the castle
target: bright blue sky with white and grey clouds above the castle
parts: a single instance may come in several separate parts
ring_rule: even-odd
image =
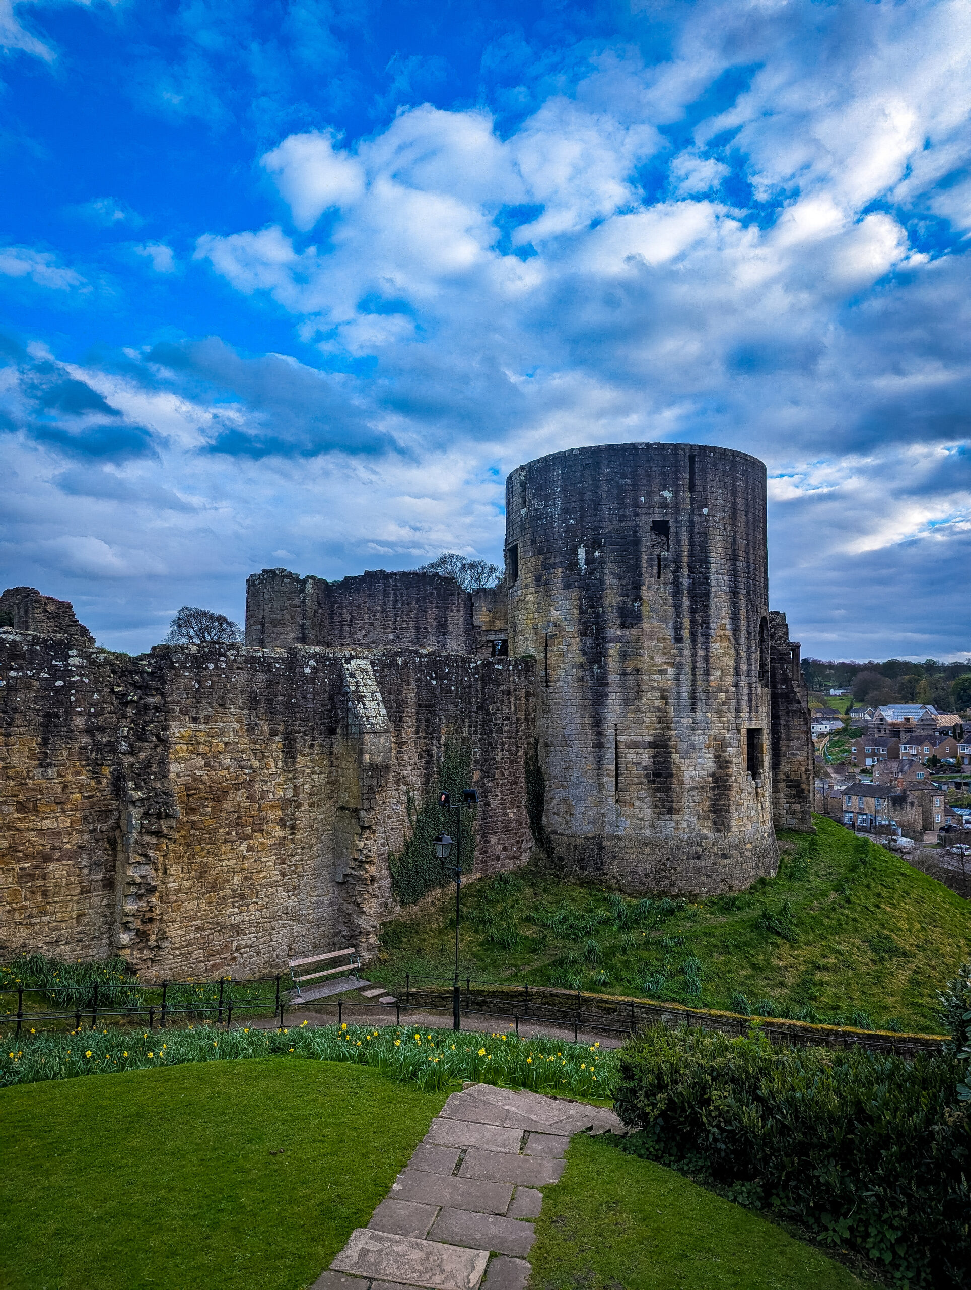
[[[803,651],[971,650],[967,3],[0,0],[0,579],[116,649],[761,457]]]

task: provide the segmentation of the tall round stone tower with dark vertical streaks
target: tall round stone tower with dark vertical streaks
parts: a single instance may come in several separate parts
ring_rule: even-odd
[[[505,580],[562,869],[672,893],[775,873],[762,462],[611,444],[520,466]]]

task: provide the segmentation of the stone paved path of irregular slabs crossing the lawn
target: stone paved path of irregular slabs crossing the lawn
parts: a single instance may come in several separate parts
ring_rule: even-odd
[[[524,1290],[542,1188],[589,1131],[624,1130],[602,1107],[466,1085],[312,1290]]]

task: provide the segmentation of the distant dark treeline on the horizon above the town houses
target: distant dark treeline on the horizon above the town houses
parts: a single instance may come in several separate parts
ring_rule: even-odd
[[[941,712],[971,707],[971,658],[958,663],[936,658],[923,663],[904,658],[883,663],[806,658],[802,671],[811,690],[848,689],[858,703],[932,703]]]

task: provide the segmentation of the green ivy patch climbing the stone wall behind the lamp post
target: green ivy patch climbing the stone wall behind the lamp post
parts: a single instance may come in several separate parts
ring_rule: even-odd
[[[446,739],[438,762],[436,783],[422,806],[407,795],[407,826],[411,836],[400,851],[388,855],[391,889],[401,904],[414,904],[428,891],[451,882],[454,878],[455,844],[458,844],[458,813],[438,805],[438,793],[445,789],[453,802],[462,801],[462,791],[472,784],[472,748],[459,739]],[[469,873],[476,855],[476,809],[462,808],[462,868]],[[449,833],[453,840],[451,858],[440,860],[435,854],[435,838]]]

